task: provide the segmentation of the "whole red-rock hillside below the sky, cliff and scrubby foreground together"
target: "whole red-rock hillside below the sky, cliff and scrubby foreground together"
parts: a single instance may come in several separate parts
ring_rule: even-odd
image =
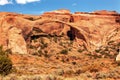
[[[120,14],[115,11],[0,12],[0,45],[11,49],[15,68],[2,80],[120,79],[115,61],[120,61]]]

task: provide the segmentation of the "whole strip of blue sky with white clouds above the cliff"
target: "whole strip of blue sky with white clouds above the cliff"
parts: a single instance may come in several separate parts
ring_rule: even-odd
[[[120,13],[120,0],[0,0],[0,12],[38,15],[57,9],[69,9],[71,12],[115,10]]]

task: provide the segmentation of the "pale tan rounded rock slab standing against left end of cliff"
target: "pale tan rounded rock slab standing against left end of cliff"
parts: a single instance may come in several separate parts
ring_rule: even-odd
[[[21,29],[16,27],[9,30],[8,48],[10,48],[13,53],[27,54],[27,45],[21,32]]]

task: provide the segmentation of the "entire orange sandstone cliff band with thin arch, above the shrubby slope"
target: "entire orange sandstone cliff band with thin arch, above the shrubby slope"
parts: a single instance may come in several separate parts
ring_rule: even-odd
[[[120,39],[120,15],[114,11],[71,14],[69,10],[55,10],[40,16],[0,13],[0,45],[26,54],[26,43],[34,28],[56,35],[72,31],[78,46],[84,45],[92,52],[109,41]]]

